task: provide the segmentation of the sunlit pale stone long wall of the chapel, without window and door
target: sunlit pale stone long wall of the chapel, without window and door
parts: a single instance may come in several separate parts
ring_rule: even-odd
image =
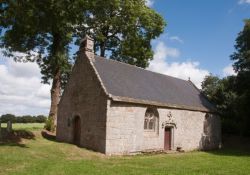
[[[159,112],[159,131],[144,131],[144,115],[147,106],[129,103],[108,103],[106,154],[128,154],[143,150],[164,149],[164,123],[171,114],[176,127],[172,128],[172,149],[183,150],[218,148],[221,140],[220,118],[197,111],[157,108]],[[208,122],[204,129],[204,123]],[[209,132],[204,133],[204,130]]]

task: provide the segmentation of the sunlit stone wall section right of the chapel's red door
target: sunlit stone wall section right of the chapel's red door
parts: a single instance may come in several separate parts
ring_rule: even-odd
[[[176,122],[176,128],[173,130],[174,149],[181,147],[183,150],[189,151],[219,148],[221,142],[219,116],[199,111],[159,109],[160,116],[165,118],[169,112]],[[210,119],[207,125],[209,133],[205,134],[206,116],[209,116]]]

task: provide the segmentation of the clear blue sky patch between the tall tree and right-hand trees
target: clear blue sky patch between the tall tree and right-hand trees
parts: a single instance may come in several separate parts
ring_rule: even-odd
[[[232,63],[237,34],[243,19],[250,18],[250,1],[239,0],[154,0],[152,8],[167,21],[165,34],[178,36],[183,42],[163,39],[180,51],[173,61],[198,61],[199,67],[216,75]]]

